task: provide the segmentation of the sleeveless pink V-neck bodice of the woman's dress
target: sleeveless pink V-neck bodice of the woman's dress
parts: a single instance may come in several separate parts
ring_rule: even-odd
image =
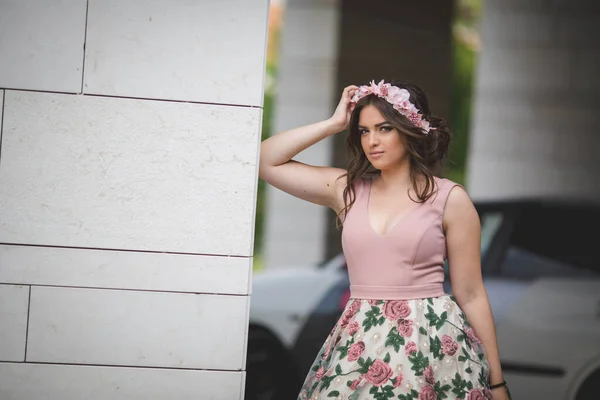
[[[350,275],[351,296],[408,300],[444,294],[446,238],[442,219],[446,199],[456,183],[435,178],[436,193],[417,205],[384,235],[368,215],[371,179],[355,182],[356,201],[348,212],[342,247]]]

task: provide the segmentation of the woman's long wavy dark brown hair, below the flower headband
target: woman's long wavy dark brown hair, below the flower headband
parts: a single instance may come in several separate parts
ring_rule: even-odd
[[[376,107],[381,115],[404,136],[410,161],[410,180],[412,189],[417,196],[416,200],[413,199],[414,201],[424,203],[433,196],[435,193],[434,176],[441,174],[444,161],[447,159],[452,137],[450,127],[443,119],[431,115],[425,92],[417,85],[408,82],[391,81],[388,83],[408,91],[409,101],[421,112],[423,119],[429,121],[431,130],[425,134],[421,128],[396,111],[385,99],[376,95],[368,95],[358,101],[350,116],[348,127],[347,143],[350,160],[348,172],[343,175],[346,177],[346,188],[344,189],[344,208],[337,215],[336,225],[338,228],[342,224],[342,216],[350,210],[356,200],[354,182],[363,177],[378,174],[363,151],[361,135],[358,130],[360,112],[365,106]],[[425,178],[425,184],[419,185],[419,179],[422,177]]]

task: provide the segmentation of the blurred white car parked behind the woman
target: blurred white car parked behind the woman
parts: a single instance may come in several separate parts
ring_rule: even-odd
[[[600,208],[477,203],[482,270],[514,399],[600,399]],[[599,246],[598,249],[596,246]],[[445,290],[451,293],[449,277]],[[295,399],[349,298],[343,255],[254,277],[247,400]]]

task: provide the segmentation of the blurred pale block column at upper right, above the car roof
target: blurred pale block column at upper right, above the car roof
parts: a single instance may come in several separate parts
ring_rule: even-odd
[[[484,2],[474,198],[600,200],[597,9],[587,0]]]

